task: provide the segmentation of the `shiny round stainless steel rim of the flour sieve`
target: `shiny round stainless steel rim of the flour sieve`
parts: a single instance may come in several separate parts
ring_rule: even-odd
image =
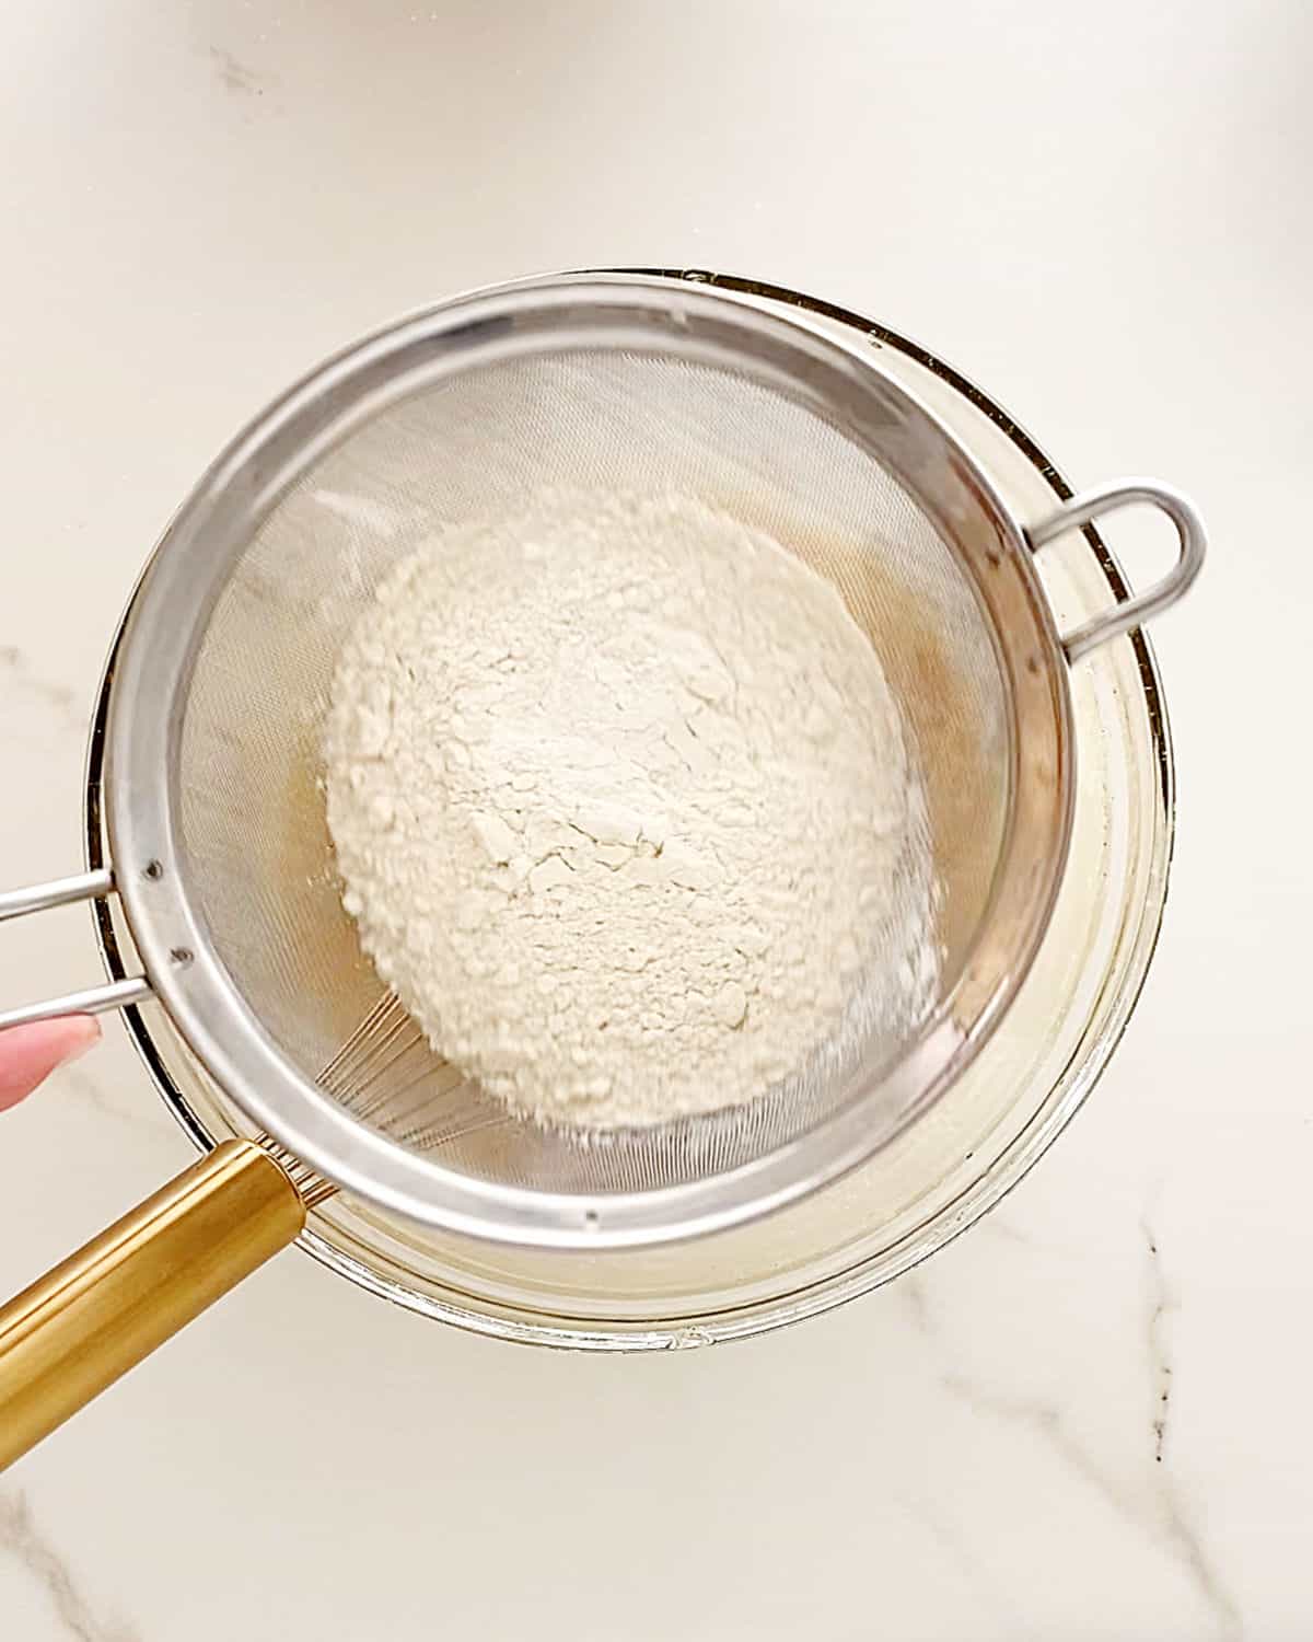
[[[983,550],[1001,562],[1004,545],[1011,548],[1011,560],[1021,568],[1013,588],[1026,596],[1024,614],[1034,639],[1037,644],[1045,637],[1052,640],[1044,627],[1047,606],[1021,534],[991,496],[986,478],[929,412],[870,373],[868,361],[857,361],[829,338],[757,310],[735,309],[729,322],[719,296],[686,289],[678,304],[671,304],[665,287],[653,296],[637,279],[601,281],[583,291],[574,284],[494,299],[476,296],[402,322],[338,355],[258,419],[184,504],[143,581],[125,635],[110,699],[107,819],[125,910],[148,975],[194,1051],[263,1128],[348,1190],[373,1197],[394,1212],[484,1236],[604,1246],[711,1230],[812,1189],[870,1153],[870,1120],[860,1110],[865,1102],[855,1102],[816,1131],[734,1174],[652,1192],[581,1199],[456,1176],[366,1128],[286,1062],[210,946],[200,910],[187,893],[185,851],[176,821],[176,749],[190,660],[226,565],[245,548],[259,517],[325,448],[404,391],[414,391],[417,383],[397,369],[399,360],[414,358],[414,350],[420,350],[419,374],[427,386],[471,351],[486,363],[489,353],[502,358],[542,335],[560,350],[566,325],[581,328],[594,346],[599,340],[650,345],[653,330],[673,327],[679,333],[681,355],[688,353],[689,332],[696,330],[699,358],[725,355],[735,368],[743,365],[742,332],[747,330],[757,350],[753,365],[763,376],[773,373],[775,384],[785,391],[796,392],[799,381],[816,389],[826,374],[835,397],[853,384],[865,401],[878,386],[881,412],[901,417],[899,425],[909,430],[911,455],[922,465],[909,475],[919,499],[927,501],[932,512],[937,506],[957,506],[952,483],[957,479],[970,493],[963,506],[985,501],[998,547]],[[936,463],[940,466],[927,478],[922,468]],[[1039,754],[1039,764],[1047,762],[1052,773],[1044,801],[1027,811],[1026,800],[1037,783],[1026,778],[1019,759],[1013,772],[1011,855],[1027,864],[1029,882],[1019,885],[1026,893],[1008,933],[996,918],[990,921],[1008,962],[988,954],[986,962],[968,965],[954,1000],[913,1053],[881,1080],[881,1103],[888,1100],[903,1121],[958,1069],[1009,982],[1024,972],[1027,949],[1047,918],[1065,852],[1070,803],[1068,772],[1062,767],[1068,741],[1065,678],[1052,642],[1049,650],[1047,690],[1039,681],[1039,668],[1036,681],[1009,668],[1014,699],[1029,699],[1041,709],[1029,714],[1027,754]],[[1008,660],[1004,657],[1004,663]],[[151,714],[143,711],[143,703],[167,703],[167,709]],[[1041,716],[1045,706],[1052,714],[1047,722]],[[1047,729],[1047,737],[1041,729]],[[161,770],[167,772],[162,783]],[[1022,824],[1027,821],[1039,824],[1027,828]],[[817,1146],[822,1138],[830,1146]]]

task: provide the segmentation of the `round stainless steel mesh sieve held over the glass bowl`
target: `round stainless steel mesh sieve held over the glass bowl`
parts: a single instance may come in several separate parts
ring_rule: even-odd
[[[940,892],[942,988],[914,1030],[855,1008],[755,1105],[604,1143],[512,1118],[374,1013],[384,988],[341,910],[320,785],[338,649],[381,578],[437,525],[548,484],[698,496],[839,588],[916,749]],[[1031,553],[1126,501],[1169,512],[1178,563],[1064,640]],[[405,320],[230,447],[138,591],[105,788],[143,990],[287,1153],[387,1210],[584,1248],[766,1212],[898,1133],[1006,1008],[1065,859],[1065,668],[1177,598],[1201,550],[1188,504],[1139,481],[1027,530],[876,358],[696,282],[574,276]],[[384,1018],[409,1071],[404,1098],[377,1102],[338,1074]]]

